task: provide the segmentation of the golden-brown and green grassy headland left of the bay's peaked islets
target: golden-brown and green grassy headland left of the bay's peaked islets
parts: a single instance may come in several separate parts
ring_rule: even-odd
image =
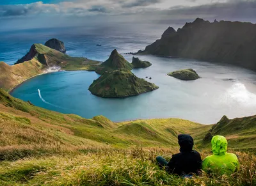
[[[0,62],[0,88],[10,91],[26,79],[44,74],[49,66],[61,66],[63,70],[95,70],[100,65],[99,61],[73,58],[42,44],[32,45],[31,50],[33,58],[28,61],[12,66]]]

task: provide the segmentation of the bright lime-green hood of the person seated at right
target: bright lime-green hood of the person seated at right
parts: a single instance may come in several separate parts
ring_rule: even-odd
[[[228,148],[228,141],[224,136],[212,137],[212,153],[214,155],[225,155]]]

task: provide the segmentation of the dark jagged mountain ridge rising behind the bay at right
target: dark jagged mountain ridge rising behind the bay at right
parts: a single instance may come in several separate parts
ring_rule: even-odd
[[[160,40],[138,54],[173,56],[230,63],[256,70],[256,24],[196,19],[174,31],[169,27]]]

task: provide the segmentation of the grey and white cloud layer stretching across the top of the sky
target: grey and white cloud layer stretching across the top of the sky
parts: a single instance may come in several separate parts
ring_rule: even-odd
[[[212,2],[212,3],[211,3]],[[208,3],[208,4],[205,4]],[[199,5],[198,5],[199,4]],[[201,5],[200,5],[201,4]],[[204,19],[256,19],[256,1],[242,0],[76,0],[56,4],[41,1],[31,4],[0,6],[0,17],[29,15],[118,15],[116,19],[134,22],[184,22],[196,17]],[[131,17],[129,19],[128,17]],[[114,19],[114,17],[111,17]]]

